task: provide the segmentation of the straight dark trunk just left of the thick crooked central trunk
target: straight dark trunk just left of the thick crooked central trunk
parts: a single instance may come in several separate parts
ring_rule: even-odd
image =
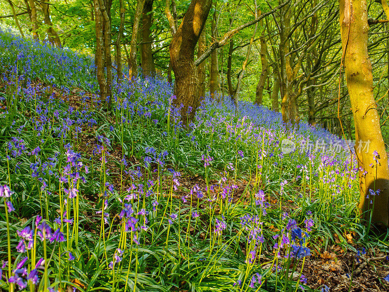
[[[142,13],[142,70],[144,76],[155,76],[153,50],[151,48],[153,39],[150,37],[150,28],[153,24],[153,1],[146,0],[144,2]]]

